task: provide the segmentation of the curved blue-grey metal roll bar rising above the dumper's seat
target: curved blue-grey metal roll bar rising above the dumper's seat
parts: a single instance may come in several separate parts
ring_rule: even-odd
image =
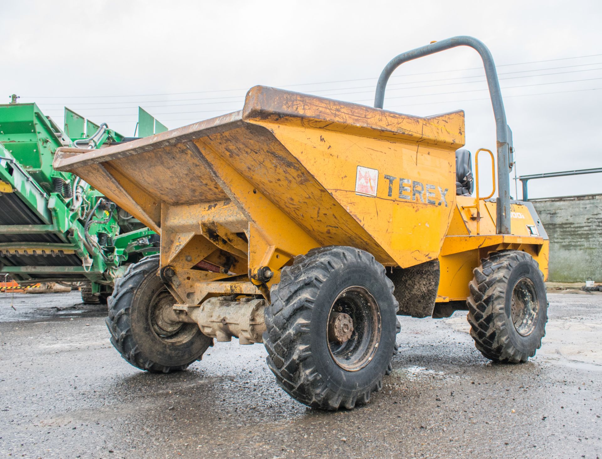
[[[491,105],[495,115],[495,133],[497,137],[497,233],[510,234],[510,170],[514,165],[514,160],[510,156],[514,151],[512,148],[512,131],[506,123],[506,111],[504,111],[504,102],[501,99],[500,82],[497,78],[493,57],[483,42],[468,36],[452,37],[406,51],[394,57],[380,73],[376,85],[376,94],[374,95],[374,107],[383,107],[386,83],[391,73],[401,64],[445,49],[456,48],[456,46],[470,46],[480,54],[483,60]]]

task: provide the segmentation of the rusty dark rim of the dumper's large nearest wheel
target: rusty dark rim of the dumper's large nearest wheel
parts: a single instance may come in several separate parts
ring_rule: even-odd
[[[326,323],[328,350],[347,371],[365,367],[380,342],[380,309],[364,287],[348,287],[330,306]]]

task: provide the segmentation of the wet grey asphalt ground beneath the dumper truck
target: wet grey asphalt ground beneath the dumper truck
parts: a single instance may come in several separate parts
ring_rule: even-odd
[[[326,413],[276,386],[261,345],[217,343],[185,372],[130,366],[105,307],[0,294],[4,457],[602,457],[602,293],[550,293],[520,365],[474,348],[465,313],[400,317],[400,352],[365,407]],[[11,308],[11,305],[14,307]]]

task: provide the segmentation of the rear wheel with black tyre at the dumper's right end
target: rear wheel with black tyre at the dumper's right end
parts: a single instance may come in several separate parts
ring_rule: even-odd
[[[474,269],[468,298],[470,334],[490,360],[526,362],[541,347],[548,320],[544,275],[531,255],[489,254]]]

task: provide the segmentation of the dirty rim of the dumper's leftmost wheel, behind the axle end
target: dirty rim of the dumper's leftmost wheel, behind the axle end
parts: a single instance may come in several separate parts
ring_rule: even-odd
[[[175,322],[173,319],[174,299],[169,290],[155,293],[149,308],[149,321],[155,335],[164,343],[178,346],[190,341],[199,330],[196,323]]]

